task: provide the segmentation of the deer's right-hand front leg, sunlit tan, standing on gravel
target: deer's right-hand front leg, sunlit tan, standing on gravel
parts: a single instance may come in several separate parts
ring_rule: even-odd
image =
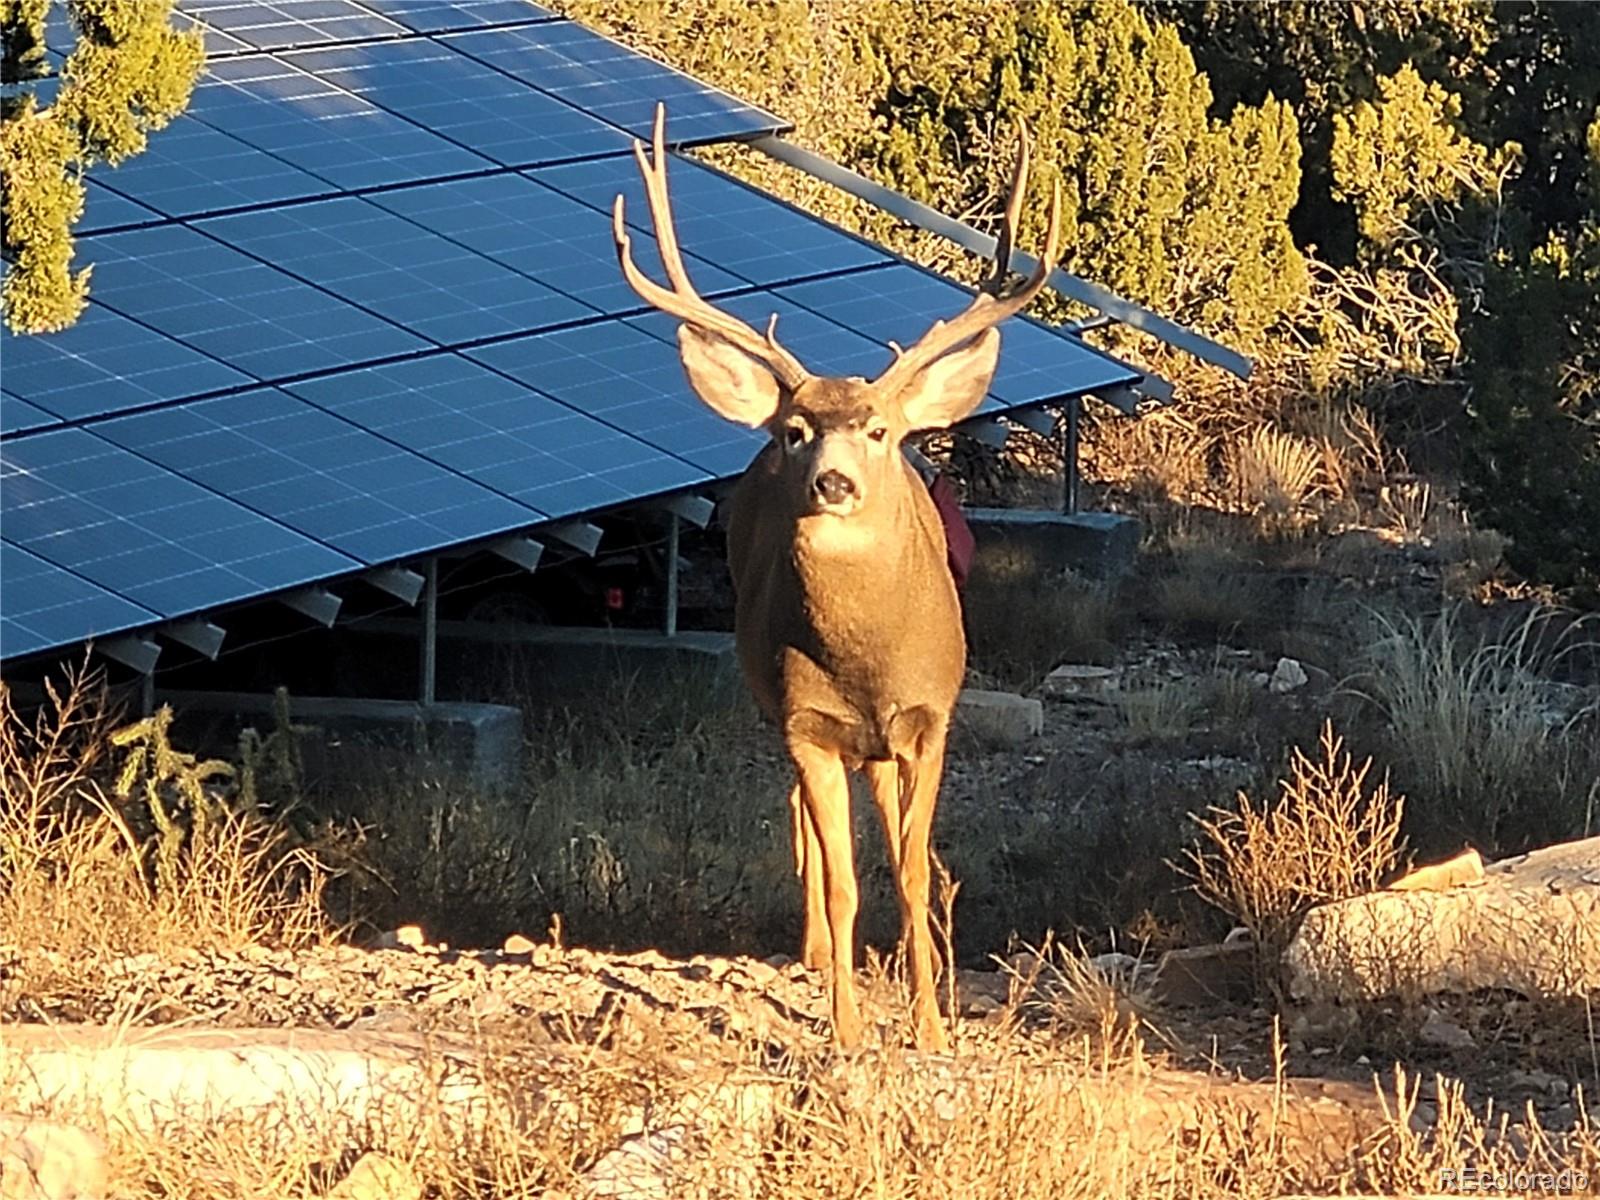
[[[950,1048],[939,1021],[939,998],[934,979],[939,973],[939,957],[928,930],[928,838],[933,830],[933,810],[939,798],[939,778],[944,773],[944,725],[931,723],[915,739],[910,755],[898,760],[899,787],[896,789],[896,816],[899,818],[899,885],[901,914],[906,941],[910,944],[912,1021],[917,1046],[946,1051]],[[888,808],[885,821],[888,819]]]

